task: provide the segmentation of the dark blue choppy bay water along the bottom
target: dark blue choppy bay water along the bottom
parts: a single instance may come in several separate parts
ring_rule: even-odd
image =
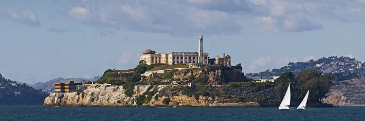
[[[277,108],[227,107],[43,107],[0,106],[0,121],[365,121],[365,106],[278,110]]]

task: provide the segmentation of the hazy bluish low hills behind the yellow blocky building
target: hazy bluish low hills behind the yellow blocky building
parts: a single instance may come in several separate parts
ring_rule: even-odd
[[[97,78],[54,78],[52,80],[46,81],[44,83],[37,83],[38,85],[35,85],[34,89],[42,89],[42,90],[54,90],[55,89],[55,83],[57,82],[68,82],[68,81],[74,81],[75,83],[85,83],[87,81],[95,81]]]

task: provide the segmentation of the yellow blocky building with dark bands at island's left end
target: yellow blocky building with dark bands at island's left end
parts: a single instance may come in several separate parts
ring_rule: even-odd
[[[73,81],[69,81],[66,83],[55,83],[55,92],[57,93],[69,93],[69,92],[75,92],[76,90],[76,86],[78,85],[82,85],[81,83],[74,83]]]

